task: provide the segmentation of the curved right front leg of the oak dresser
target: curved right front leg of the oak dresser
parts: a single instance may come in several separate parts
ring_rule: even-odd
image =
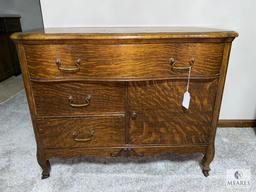
[[[210,163],[212,162],[212,160],[214,158],[214,153],[215,153],[215,149],[214,149],[214,144],[213,144],[208,147],[208,150],[202,159],[202,171],[203,171],[203,174],[205,177],[209,176],[209,171],[211,170]]]

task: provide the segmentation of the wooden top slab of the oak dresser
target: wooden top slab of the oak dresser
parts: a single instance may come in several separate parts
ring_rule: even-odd
[[[235,31],[201,27],[73,27],[15,33],[14,40],[54,39],[165,39],[237,37]]]

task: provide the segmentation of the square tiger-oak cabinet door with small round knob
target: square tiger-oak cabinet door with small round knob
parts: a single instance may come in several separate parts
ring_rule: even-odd
[[[182,107],[186,80],[130,82],[130,144],[207,144],[216,80],[191,80],[190,107]]]

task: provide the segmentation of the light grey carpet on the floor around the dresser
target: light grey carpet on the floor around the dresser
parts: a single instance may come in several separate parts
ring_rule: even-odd
[[[256,135],[253,129],[218,129],[210,176],[200,154],[154,158],[54,159],[51,177],[41,180],[24,91],[0,104],[1,192],[171,192],[256,191]],[[250,169],[250,189],[227,188],[228,169]]]

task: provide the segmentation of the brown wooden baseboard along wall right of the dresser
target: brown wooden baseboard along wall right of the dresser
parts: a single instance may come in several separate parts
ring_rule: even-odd
[[[256,127],[256,119],[220,119],[218,127]]]

